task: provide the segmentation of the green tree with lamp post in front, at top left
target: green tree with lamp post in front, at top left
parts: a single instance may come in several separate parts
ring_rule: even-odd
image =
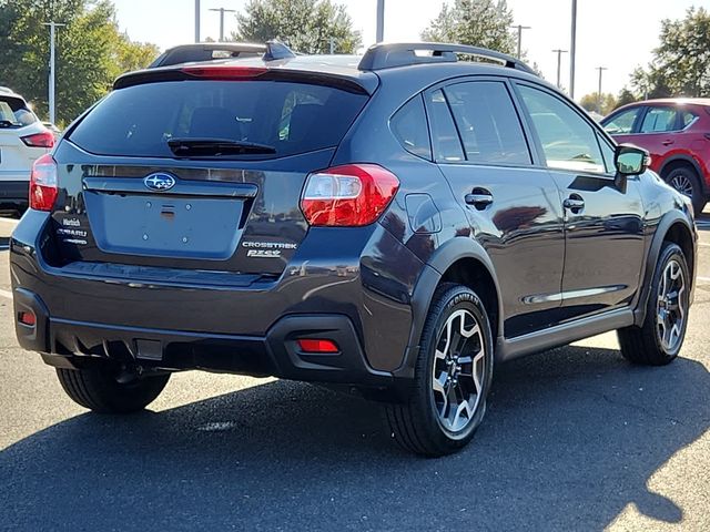
[[[57,122],[67,124],[102,98],[123,72],[146,66],[152,44],[120,33],[109,0],[0,0],[0,80],[47,115],[49,30],[57,31]]]

